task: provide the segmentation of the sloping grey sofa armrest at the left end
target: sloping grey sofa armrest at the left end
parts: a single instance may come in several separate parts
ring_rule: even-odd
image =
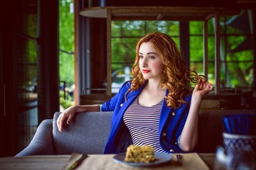
[[[28,147],[15,157],[42,154],[53,154],[53,119],[43,120]]]

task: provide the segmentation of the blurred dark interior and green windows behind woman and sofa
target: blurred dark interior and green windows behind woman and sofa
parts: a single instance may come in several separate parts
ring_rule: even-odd
[[[137,41],[155,31],[171,35],[186,66],[214,84],[201,109],[255,109],[255,6],[255,0],[7,1],[0,157],[26,147],[56,111],[116,94],[132,79]]]

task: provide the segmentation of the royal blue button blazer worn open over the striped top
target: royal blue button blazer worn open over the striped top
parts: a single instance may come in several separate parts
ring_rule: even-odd
[[[127,101],[125,101],[124,94],[130,86],[131,81],[127,81],[110,101],[102,104],[102,111],[113,111],[110,136],[105,146],[105,154],[126,152],[127,147],[132,144],[129,130],[124,124],[123,115],[132,101],[142,92],[144,86],[137,91],[129,92],[127,94]],[[166,91],[166,94],[168,94],[168,91]],[[166,105],[164,99],[163,106],[161,107],[159,140],[161,147],[169,153],[183,152],[181,148],[178,147],[178,137],[181,135],[186,123],[186,118],[188,117],[191,95],[186,96],[184,100],[188,103],[183,103],[180,108],[173,109]]]

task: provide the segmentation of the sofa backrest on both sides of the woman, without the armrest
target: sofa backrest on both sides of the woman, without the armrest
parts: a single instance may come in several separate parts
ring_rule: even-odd
[[[199,113],[198,152],[215,152],[223,145],[223,115],[255,113],[256,110],[201,110]],[[78,113],[69,125],[64,123],[63,132],[59,132],[53,118],[53,143],[55,154],[102,154],[110,134],[112,112]],[[255,125],[256,126],[256,125]],[[255,127],[256,128],[256,127]]]

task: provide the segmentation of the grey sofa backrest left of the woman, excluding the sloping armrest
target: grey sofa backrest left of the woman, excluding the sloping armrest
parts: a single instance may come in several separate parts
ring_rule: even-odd
[[[112,112],[77,113],[68,125],[63,123],[63,132],[57,128],[57,118],[53,117],[53,141],[55,154],[103,154],[110,134]]]

